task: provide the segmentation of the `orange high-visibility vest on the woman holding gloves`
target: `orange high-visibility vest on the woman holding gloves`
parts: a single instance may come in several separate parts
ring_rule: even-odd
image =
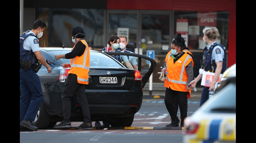
[[[171,57],[171,51],[168,52],[165,58],[166,70],[168,74],[165,77],[165,87],[171,88],[176,91],[186,92],[188,74],[186,73],[185,67],[192,62],[194,66],[192,57],[185,53],[182,55],[175,63],[173,63],[173,57]],[[187,97],[190,98],[191,89],[188,91]]]

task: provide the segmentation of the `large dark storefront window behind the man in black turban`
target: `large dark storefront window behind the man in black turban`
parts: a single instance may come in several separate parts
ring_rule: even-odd
[[[59,9],[38,8],[36,19],[44,17],[48,28],[49,43],[51,47],[73,47],[71,41],[72,28],[81,26],[85,32],[85,40],[95,50],[105,46],[104,37],[104,10],[102,9]],[[44,34],[46,32],[44,31]],[[62,37],[63,36],[63,37]]]

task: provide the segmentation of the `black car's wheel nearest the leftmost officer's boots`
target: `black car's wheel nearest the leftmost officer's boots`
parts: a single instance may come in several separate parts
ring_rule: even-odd
[[[36,127],[40,128],[47,128],[51,122],[51,115],[49,115],[44,106],[44,101],[42,101],[39,110],[36,115],[36,119],[33,122]],[[56,123],[55,123],[56,124]]]

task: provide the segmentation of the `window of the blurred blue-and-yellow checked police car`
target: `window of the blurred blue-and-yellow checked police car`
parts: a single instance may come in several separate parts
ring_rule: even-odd
[[[203,111],[214,113],[236,113],[236,84],[230,83],[215,94],[216,97],[204,106]]]

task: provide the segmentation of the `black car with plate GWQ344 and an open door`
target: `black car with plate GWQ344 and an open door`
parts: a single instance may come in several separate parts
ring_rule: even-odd
[[[53,61],[55,55],[66,54],[71,50],[72,48],[40,48],[44,59],[49,61]],[[115,52],[115,55],[136,57],[138,70],[132,70],[107,54],[113,55],[113,52],[90,50],[89,84],[86,85],[85,92],[91,120],[109,121],[112,127],[131,126],[134,114],[142,104],[143,87],[155,69],[156,62],[143,55]],[[147,60],[151,64],[147,64]],[[59,76],[61,64],[70,63],[70,59],[59,59],[53,63],[55,65],[51,73],[44,66],[37,72],[44,95],[34,121],[38,128],[52,127],[63,120],[61,94],[64,82],[60,82]],[[66,70],[67,74],[68,71],[69,69]],[[71,121],[83,121],[82,109],[75,94],[71,108]]]

